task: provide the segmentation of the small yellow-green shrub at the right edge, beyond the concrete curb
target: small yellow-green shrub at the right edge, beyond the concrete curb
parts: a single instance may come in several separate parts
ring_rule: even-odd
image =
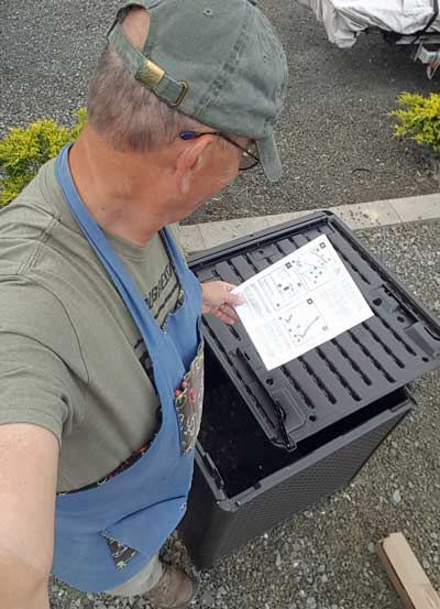
[[[419,94],[403,93],[398,96],[399,110],[391,116],[396,117],[394,134],[408,135],[418,144],[440,153],[440,94],[431,93],[428,97]]]

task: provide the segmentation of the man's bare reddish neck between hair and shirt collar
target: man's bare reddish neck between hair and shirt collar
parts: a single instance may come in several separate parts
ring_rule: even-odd
[[[114,151],[86,126],[69,152],[79,196],[99,226],[136,246],[166,224],[166,155]],[[147,186],[146,186],[147,185]]]

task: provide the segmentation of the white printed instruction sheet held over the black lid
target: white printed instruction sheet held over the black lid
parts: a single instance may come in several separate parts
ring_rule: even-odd
[[[267,370],[361,324],[373,313],[328,238],[317,237],[233,290]]]

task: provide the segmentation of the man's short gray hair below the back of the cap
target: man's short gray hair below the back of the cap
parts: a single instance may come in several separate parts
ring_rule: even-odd
[[[91,77],[87,119],[114,150],[150,152],[200,122],[174,110],[141,85],[107,45]]]

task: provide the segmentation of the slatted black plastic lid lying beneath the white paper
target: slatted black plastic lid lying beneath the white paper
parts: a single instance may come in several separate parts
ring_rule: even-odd
[[[271,370],[243,325],[204,318],[204,334],[265,434],[298,442],[440,367],[440,323],[333,214],[321,211],[195,254],[201,282],[240,284],[327,235],[374,317]]]

